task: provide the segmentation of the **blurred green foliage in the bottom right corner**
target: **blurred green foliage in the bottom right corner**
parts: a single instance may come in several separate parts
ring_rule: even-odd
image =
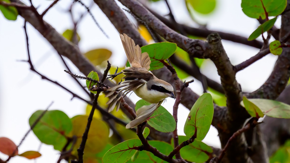
[[[270,157],[270,163],[289,163],[290,162],[290,140]]]

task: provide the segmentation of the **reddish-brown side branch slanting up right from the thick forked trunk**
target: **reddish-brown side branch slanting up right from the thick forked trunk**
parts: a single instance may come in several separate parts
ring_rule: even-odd
[[[255,61],[258,61],[259,59],[263,58],[264,56],[266,56],[267,54],[270,53],[269,48],[266,48],[264,50],[261,50],[260,52],[258,52],[258,54],[256,54],[255,56],[249,58],[248,60],[236,65],[234,67],[235,72],[238,72],[240,70],[243,70],[244,68],[247,68],[248,66],[250,66],[251,64],[255,63]]]

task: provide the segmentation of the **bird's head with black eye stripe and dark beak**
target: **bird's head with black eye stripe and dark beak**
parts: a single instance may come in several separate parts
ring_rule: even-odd
[[[163,94],[166,97],[175,98],[173,94],[173,87],[164,80],[154,78],[147,84],[148,90],[154,90],[158,94]],[[166,98],[164,97],[164,98]]]

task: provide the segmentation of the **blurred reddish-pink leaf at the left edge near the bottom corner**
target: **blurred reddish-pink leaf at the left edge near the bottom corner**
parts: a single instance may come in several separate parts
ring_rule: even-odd
[[[13,154],[13,152],[15,153]],[[7,137],[0,137],[0,152],[8,155],[8,156],[15,156],[18,155],[17,146]]]

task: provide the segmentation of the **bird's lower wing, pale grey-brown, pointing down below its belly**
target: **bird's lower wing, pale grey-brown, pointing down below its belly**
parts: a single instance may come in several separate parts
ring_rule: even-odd
[[[139,124],[145,122],[154,111],[162,104],[163,100],[157,104],[144,105],[136,111],[137,117],[126,125],[126,128],[134,128]]]

